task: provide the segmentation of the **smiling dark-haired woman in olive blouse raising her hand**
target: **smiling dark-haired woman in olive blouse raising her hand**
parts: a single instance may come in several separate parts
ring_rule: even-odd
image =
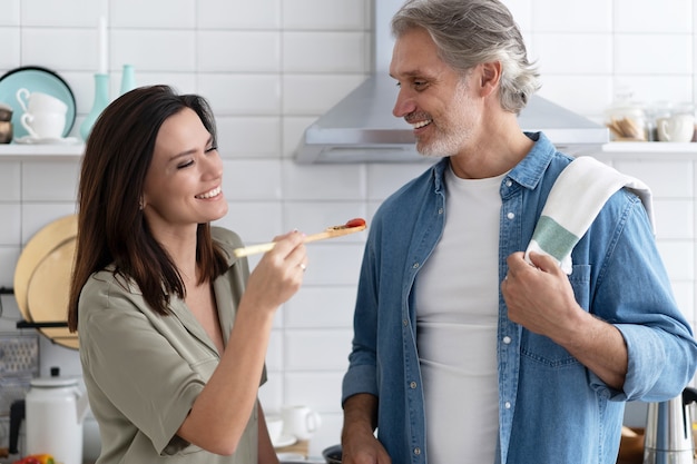
[[[68,324],[108,463],[278,463],[257,392],[276,309],[303,282],[303,235],[249,275],[207,102],[135,89],[100,116],[78,191]]]

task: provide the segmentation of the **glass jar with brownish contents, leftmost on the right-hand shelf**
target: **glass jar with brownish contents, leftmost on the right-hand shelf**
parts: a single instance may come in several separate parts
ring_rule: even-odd
[[[639,102],[632,101],[632,92],[621,87],[616,100],[606,110],[606,126],[610,139],[615,141],[648,141],[649,131],[646,111]]]

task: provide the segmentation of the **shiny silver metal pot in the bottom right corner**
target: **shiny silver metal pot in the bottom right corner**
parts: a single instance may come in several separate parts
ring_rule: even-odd
[[[644,464],[693,464],[695,442],[689,405],[697,402],[697,389],[648,406]]]

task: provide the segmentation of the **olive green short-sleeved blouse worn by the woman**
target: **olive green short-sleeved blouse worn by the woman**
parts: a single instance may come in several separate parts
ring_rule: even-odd
[[[225,344],[249,275],[232,250],[239,237],[213,228],[229,269],[214,283]],[[220,355],[184,300],[171,298],[171,315],[146,305],[137,285],[108,267],[90,277],[79,300],[79,352],[89,403],[99,424],[97,464],[256,464],[257,408],[232,456],[220,456],[176,435]],[[266,381],[264,371],[261,383]]]

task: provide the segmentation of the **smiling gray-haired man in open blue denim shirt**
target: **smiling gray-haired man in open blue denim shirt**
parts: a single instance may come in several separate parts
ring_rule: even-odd
[[[695,372],[637,196],[619,189],[567,275],[526,249],[572,158],[517,113],[538,89],[495,0],[411,0],[395,14],[394,115],[443,159],[373,219],[343,384],[345,464],[616,462],[625,401]],[[376,434],[375,434],[376,431]]]

